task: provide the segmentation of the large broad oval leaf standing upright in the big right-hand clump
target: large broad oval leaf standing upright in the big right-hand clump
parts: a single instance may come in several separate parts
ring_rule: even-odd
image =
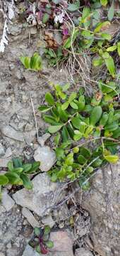
[[[102,116],[102,107],[100,106],[94,107],[90,114],[90,124],[94,126],[100,120],[101,116]]]

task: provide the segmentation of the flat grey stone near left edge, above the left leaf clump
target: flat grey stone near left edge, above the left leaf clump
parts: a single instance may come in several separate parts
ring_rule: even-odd
[[[7,125],[2,129],[2,133],[11,139],[15,139],[20,142],[24,142],[24,137],[22,132],[18,132],[15,129],[13,129],[10,125]]]

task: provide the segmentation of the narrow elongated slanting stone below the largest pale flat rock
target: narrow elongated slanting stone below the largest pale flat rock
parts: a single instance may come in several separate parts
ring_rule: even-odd
[[[23,207],[22,214],[23,214],[23,216],[25,218],[27,218],[28,223],[30,223],[30,225],[32,225],[33,228],[40,227],[39,222],[35,219],[35,217],[32,215],[30,210],[28,210],[27,208]]]

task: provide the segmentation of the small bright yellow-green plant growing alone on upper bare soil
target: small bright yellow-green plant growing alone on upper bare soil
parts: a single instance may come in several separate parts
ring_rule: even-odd
[[[32,57],[22,56],[20,57],[20,61],[28,70],[42,70],[42,58],[38,53],[34,53]]]

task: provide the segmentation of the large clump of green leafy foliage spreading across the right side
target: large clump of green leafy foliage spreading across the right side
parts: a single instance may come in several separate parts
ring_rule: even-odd
[[[116,163],[120,137],[120,110],[115,82],[99,82],[100,90],[90,98],[84,90],[67,95],[69,85],[53,85],[54,95],[47,92],[39,110],[45,122],[51,124],[48,132],[56,134],[56,165],[49,171],[52,181],[75,180],[85,183],[93,171]],[[46,114],[45,112],[48,112]],[[88,145],[94,143],[94,146]]]

